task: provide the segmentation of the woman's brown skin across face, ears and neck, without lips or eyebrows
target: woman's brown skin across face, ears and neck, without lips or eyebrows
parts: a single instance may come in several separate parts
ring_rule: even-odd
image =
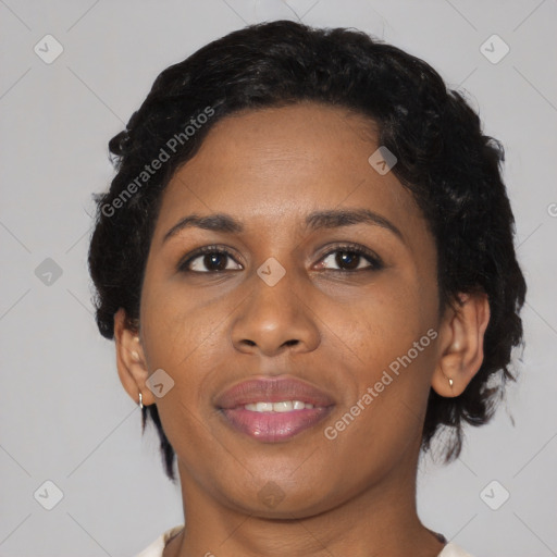
[[[394,173],[368,162],[379,147],[373,129],[359,114],[317,103],[227,116],[163,194],[140,330],[126,329],[123,310],[114,323],[122,384],[135,401],[141,392],[145,405],[157,404],[177,456],[187,525],[164,557],[433,557],[443,548],[416,510],[421,429],[430,387],[458,396],[478,372],[488,301],[462,296],[460,311],[440,318],[434,238]],[[401,238],[368,223],[305,228],[312,211],[348,208],[381,214]],[[191,213],[227,213],[245,231],[188,227],[163,242]],[[384,268],[369,270],[363,256],[358,271],[343,267],[334,249],[346,242]],[[221,259],[226,271],[203,256],[198,273],[177,270],[213,244],[234,253]],[[257,274],[270,257],[286,271],[272,287]],[[430,329],[436,338],[327,440],[324,428]],[[146,381],[160,368],[174,387],[157,398]],[[282,374],[332,394],[332,414],[277,444],[226,425],[218,393]],[[258,496],[265,485],[284,496],[272,508]]]

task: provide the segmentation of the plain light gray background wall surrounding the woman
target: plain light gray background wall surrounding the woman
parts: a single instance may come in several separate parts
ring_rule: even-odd
[[[0,0],[0,555],[131,556],[182,523],[154,430],[141,438],[94,322],[90,195],[112,176],[109,138],[160,71],[275,18],[355,26],[425,59],[504,143],[529,283],[520,381],[491,424],[468,430],[458,461],[423,459],[419,510],[476,557],[557,555],[555,0]],[[34,51],[52,55],[47,34],[64,49],[50,64]],[[510,48],[497,63],[480,50],[493,34]],[[47,480],[63,494],[51,510]]]

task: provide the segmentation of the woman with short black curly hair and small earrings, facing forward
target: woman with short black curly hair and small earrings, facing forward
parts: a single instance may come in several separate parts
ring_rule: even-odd
[[[421,523],[418,458],[493,414],[525,284],[463,98],[278,21],[162,72],[110,150],[97,323],[185,516],[140,556],[469,555]]]

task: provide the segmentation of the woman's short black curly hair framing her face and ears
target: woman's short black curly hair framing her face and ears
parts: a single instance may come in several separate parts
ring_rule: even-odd
[[[493,416],[506,380],[515,380],[508,369],[512,348],[523,344],[519,312],[527,285],[499,172],[504,150],[482,134],[475,111],[429,64],[362,32],[290,21],[251,25],[157,77],[126,129],[110,140],[116,170],[110,190],[94,196],[88,263],[99,331],[113,338],[119,308],[127,326],[139,330],[143,276],[162,193],[214,123],[242,110],[304,101],[346,108],[377,125],[380,145],[398,159],[393,172],[435,238],[440,311],[447,305],[458,309],[458,293],[488,296],[480,371],[460,396],[445,398],[433,389],[429,395],[422,449],[445,426],[453,432],[449,461],[460,454],[463,422],[481,425]],[[187,133],[188,125],[195,133]],[[169,160],[147,173],[146,164],[163,151]],[[160,435],[165,472],[175,481],[174,450],[156,405],[143,410],[144,431],[147,416]]]

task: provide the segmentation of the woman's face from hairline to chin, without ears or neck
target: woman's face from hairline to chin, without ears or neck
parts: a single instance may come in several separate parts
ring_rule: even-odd
[[[299,518],[414,468],[436,251],[412,196],[368,161],[373,129],[314,103],[243,112],[163,194],[140,345],[174,382],[153,401],[191,494]],[[194,214],[227,220],[175,227]]]

